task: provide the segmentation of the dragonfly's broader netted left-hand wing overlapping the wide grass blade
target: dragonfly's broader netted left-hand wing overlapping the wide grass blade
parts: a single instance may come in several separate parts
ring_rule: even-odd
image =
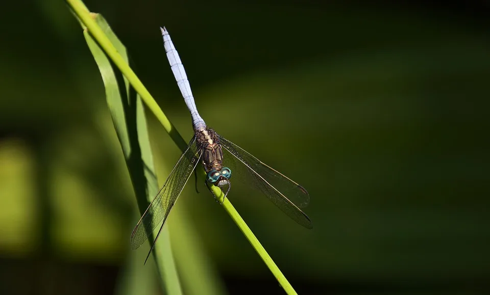
[[[165,184],[153,199],[148,209],[143,213],[138,224],[131,234],[131,247],[137,249],[152,235],[153,230],[163,219],[163,224],[168,213],[174,206],[177,198],[184,189],[184,185],[199,162],[202,151],[196,146],[195,136],[189,142],[187,149],[182,153],[174,169],[168,175]],[[163,225],[162,224],[162,225]],[[155,238],[155,241],[157,237]]]

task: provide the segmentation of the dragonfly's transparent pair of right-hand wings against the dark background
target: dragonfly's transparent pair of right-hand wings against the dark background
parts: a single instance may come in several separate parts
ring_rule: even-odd
[[[226,151],[235,156],[244,165],[242,169],[246,169],[249,172],[248,174],[253,184],[274,205],[302,226],[313,228],[308,216],[298,208],[305,207],[310,200],[308,192],[303,186],[260,162],[259,159],[227,139],[219,137],[219,142]],[[227,163],[226,155],[224,155],[224,163]],[[290,199],[294,200],[295,203],[291,202]]]

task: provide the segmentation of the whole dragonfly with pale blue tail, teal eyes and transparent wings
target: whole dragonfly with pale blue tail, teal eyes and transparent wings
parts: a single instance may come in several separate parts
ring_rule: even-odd
[[[170,68],[174,73],[177,85],[192,118],[194,136],[180,156],[177,164],[171,170],[160,191],[134,228],[131,234],[131,247],[133,249],[139,248],[146,239],[152,236],[155,228],[163,220],[148,256],[146,256],[146,260],[148,260],[168,214],[174,207],[190,175],[200,162],[206,171],[206,182],[219,187],[225,194],[224,198],[230,192],[232,174],[241,175],[241,177],[246,179],[247,185],[253,185],[253,187],[261,191],[269,201],[286,213],[292,220],[305,228],[313,228],[311,220],[300,209],[300,207],[307,206],[310,199],[308,192],[303,186],[260,162],[259,159],[231,141],[219,136],[216,131],[206,125],[195,106],[194,97],[192,96],[190,84],[179,53],[175,49],[174,43],[165,27],[160,28],[160,30]],[[224,163],[228,165],[225,166]],[[233,172],[228,166],[233,168]]]

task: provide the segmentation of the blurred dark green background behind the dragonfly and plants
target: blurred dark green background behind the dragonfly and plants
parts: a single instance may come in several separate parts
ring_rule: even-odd
[[[309,191],[312,230],[246,183],[230,194],[298,293],[490,291],[488,1],[85,4],[186,140],[161,25],[207,124]],[[134,192],[80,25],[55,0],[7,1],[0,22],[0,294],[162,293],[130,250]],[[148,124],[162,184],[181,152]],[[185,293],[202,269],[216,293],[284,293],[200,192],[191,177],[168,220]]]

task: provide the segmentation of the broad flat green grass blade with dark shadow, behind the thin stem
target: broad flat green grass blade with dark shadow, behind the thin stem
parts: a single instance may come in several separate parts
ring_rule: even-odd
[[[114,35],[110,26],[101,15],[93,15],[94,20],[104,30],[109,40],[117,48],[120,55],[128,62],[126,48]],[[143,104],[127,79],[113,70],[104,51],[92,39],[87,30],[84,36],[88,47],[99,66],[106,90],[107,105],[112,116],[117,137],[122,147],[133,183],[139,211],[144,212],[149,202],[158,192],[150,139],[146,127]],[[168,237],[168,229],[164,228],[163,237]],[[128,235],[129,236],[129,235]],[[128,238],[129,242],[129,238]],[[152,242],[152,240],[150,240]],[[168,294],[182,294],[170,241],[162,238],[158,248],[153,252],[160,272],[162,283]]]

